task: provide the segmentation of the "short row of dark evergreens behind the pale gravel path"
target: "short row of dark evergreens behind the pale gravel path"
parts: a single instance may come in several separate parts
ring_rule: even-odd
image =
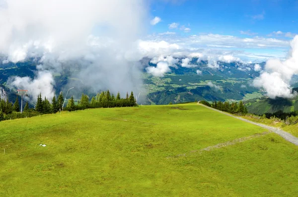
[[[200,103],[228,113],[242,113],[242,114],[247,113],[247,108],[244,106],[242,101],[240,101],[239,103],[237,102],[230,103],[227,101],[225,102],[214,101],[212,104],[210,104],[209,102],[202,100],[200,101]]]

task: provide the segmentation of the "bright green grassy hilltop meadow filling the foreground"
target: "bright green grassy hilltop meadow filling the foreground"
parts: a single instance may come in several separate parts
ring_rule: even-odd
[[[278,135],[200,151],[265,131],[197,104],[3,121],[0,196],[296,196],[298,147]]]

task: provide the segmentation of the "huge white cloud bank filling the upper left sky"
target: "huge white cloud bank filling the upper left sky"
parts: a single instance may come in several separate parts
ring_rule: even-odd
[[[0,0],[0,53],[12,62],[42,57],[35,79],[10,79],[30,95],[52,97],[51,73],[76,69],[99,91],[138,90],[140,67],[126,51],[136,48],[147,10],[144,0]],[[46,77],[45,77],[46,75]],[[35,97],[36,99],[36,97]]]

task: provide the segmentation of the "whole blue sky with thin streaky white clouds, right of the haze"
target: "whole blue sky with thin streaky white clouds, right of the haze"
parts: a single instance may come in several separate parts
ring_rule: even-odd
[[[298,33],[296,0],[151,0],[150,39],[245,61],[284,59]]]

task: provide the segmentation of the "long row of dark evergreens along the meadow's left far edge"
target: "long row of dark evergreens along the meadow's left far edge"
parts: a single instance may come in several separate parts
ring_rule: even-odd
[[[1,99],[0,97],[0,121],[32,117],[40,114],[57,113],[61,110],[74,111],[86,108],[130,107],[137,105],[133,91],[131,92],[130,96],[128,93],[126,93],[126,98],[122,99],[119,92],[115,97],[114,94],[110,94],[109,90],[103,91],[100,94],[98,93],[95,97],[92,97],[91,100],[89,100],[87,95],[82,94],[81,99],[77,101],[77,104],[75,104],[73,96],[71,99],[68,99],[66,107],[63,107],[63,103],[64,96],[62,92],[58,98],[56,98],[54,95],[54,97],[51,99],[51,102],[48,98],[43,98],[42,95],[39,94],[35,107],[30,108],[27,101],[23,109],[23,113],[20,113],[18,97],[14,103],[9,102],[8,99]]]

